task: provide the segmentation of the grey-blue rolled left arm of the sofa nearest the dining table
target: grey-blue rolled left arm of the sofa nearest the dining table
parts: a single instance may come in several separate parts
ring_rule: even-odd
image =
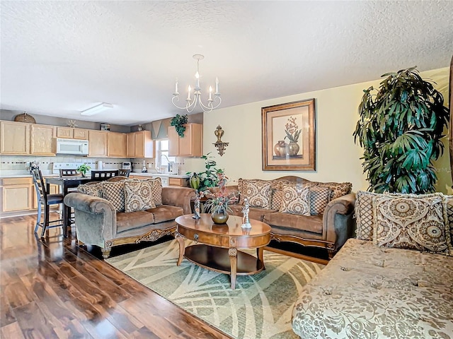
[[[103,247],[116,234],[116,210],[110,201],[88,194],[70,193],[64,204],[74,208],[77,239]]]

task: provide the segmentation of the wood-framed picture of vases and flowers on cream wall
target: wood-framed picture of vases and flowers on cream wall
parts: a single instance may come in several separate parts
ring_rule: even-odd
[[[316,169],[314,99],[261,109],[263,171]]]

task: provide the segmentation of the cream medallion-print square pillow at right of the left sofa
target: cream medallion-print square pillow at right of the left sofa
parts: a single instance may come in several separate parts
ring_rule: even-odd
[[[151,194],[152,189],[151,182],[125,180],[125,212],[155,208],[156,204]]]

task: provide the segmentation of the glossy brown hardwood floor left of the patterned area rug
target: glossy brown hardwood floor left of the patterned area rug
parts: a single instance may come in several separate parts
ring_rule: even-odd
[[[77,246],[74,227],[40,239],[35,222],[0,220],[0,338],[230,338]]]

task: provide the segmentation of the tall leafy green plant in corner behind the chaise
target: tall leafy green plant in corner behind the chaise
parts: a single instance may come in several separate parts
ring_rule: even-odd
[[[374,95],[364,90],[353,133],[364,148],[369,191],[423,194],[435,191],[432,161],[443,153],[449,112],[442,94],[415,67],[386,73]]]

